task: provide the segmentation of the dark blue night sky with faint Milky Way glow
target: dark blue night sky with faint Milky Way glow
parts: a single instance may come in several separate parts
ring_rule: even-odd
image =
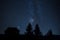
[[[17,27],[23,34],[27,24],[39,24],[46,34],[52,29],[53,34],[60,35],[60,1],[58,0],[1,0],[0,33],[7,27]]]

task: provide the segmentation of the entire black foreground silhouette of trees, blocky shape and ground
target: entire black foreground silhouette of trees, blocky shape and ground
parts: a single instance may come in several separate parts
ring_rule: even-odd
[[[36,24],[35,29],[32,31],[32,25],[29,23],[24,35],[19,34],[17,28],[8,27],[5,30],[5,34],[0,34],[0,40],[60,40],[60,35],[53,35],[52,30],[49,30],[43,36],[38,24]]]

